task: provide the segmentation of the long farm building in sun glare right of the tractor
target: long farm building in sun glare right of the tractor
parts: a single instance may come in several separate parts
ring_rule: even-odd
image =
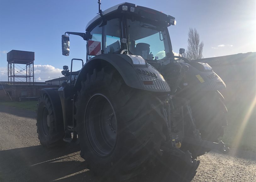
[[[226,100],[251,102],[256,96],[256,52],[194,60],[208,63],[226,83]]]

